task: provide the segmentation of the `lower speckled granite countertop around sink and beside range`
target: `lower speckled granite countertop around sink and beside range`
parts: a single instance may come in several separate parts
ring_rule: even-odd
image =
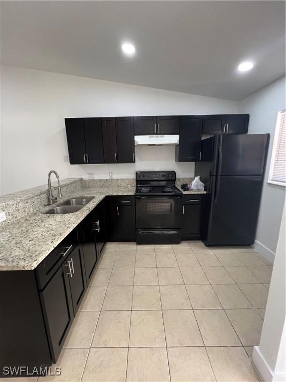
[[[0,229],[0,270],[35,269],[105,196],[134,193],[135,187],[83,187],[53,205],[57,206],[71,197],[94,196],[77,212],[45,215],[42,212],[51,208],[48,206],[6,224]]]

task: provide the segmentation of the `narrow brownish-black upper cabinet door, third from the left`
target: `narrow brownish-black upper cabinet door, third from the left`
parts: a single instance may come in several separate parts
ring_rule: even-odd
[[[115,118],[102,119],[104,163],[117,162]]]

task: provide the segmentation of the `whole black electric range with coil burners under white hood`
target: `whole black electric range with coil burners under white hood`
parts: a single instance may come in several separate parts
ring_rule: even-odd
[[[183,193],[175,183],[175,171],[136,173],[137,244],[180,243]]]

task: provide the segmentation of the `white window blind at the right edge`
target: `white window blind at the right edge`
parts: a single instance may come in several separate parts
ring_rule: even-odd
[[[277,117],[269,182],[286,186],[286,110]]]

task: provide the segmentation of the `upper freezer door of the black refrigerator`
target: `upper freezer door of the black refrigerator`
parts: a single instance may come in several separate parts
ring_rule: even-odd
[[[269,134],[221,135],[217,172],[224,175],[262,175]]]

